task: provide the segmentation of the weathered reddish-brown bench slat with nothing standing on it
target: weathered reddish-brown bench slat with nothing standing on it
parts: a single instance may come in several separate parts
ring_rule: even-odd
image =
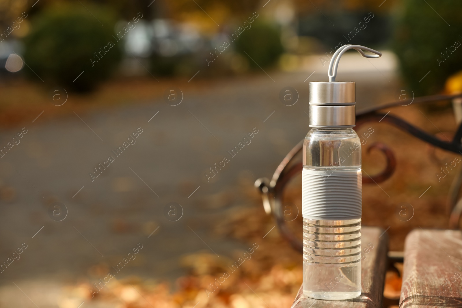
[[[462,307],[462,232],[415,229],[404,248],[400,308]]]

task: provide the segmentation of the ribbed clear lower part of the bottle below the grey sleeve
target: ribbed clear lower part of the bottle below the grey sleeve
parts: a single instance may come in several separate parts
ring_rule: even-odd
[[[361,219],[303,219],[303,291],[316,299],[361,294]]]

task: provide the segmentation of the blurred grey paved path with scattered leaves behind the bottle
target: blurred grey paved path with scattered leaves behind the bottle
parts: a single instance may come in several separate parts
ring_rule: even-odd
[[[310,73],[223,81],[201,95],[185,92],[178,106],[159,100],[82,114],[81,119],[43,122],[39,117],[24,124],[27,133],[20,143],[0,158],[0,260],[7,261],[22,243],[27,248],[0,275],[0,284],[10,290],[13,282],[26,286],[30,279],[59,284],[88,277],[92,266],[116,265],[138,243],[143,245],[138,258],[119,277],[174,279],[183,273],[178,265],[182,254],[213,250],[226,255],[245,248],[214,236],[210,226],[226,209],[245,202],[237,189],[239,177],[270,177],[308,132],[308,83],[327,79],[325,72],[315,72],[304,82]],[[358,108],[391,101],[397,92],[391,72],[340,70],[340,79],[357,82]],[[278,99],[285,86],[299,93],[293,106]],[[136,142],[116,157],[111,151],[139,127]],[[251,143],[207,182],[205,172],[255,127]],[[0,133],[0,146],[21,128]],[[92,182],[89,173],[109,156],[114,162]],[[16,197],[8,201],[11,189]],[[225,193],[234,197],[223,203]],[[53,202],[67,207],[60,222],[50,218]],[[184,210],[176,222],[164,216],[169,202]]]

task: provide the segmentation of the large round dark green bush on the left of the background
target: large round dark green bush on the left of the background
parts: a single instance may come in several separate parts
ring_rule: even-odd
[[[84,5],[52,6],[37,14],[24,39],[24,60],[30,67],[25,71],[31,78],[38,75],[51,85],[89,91],[117,68],[122,41],[114,37],[115,15],[106,7]],[[115,45],[98,54],[100,60],[93,63],[98,59],[95,53],[109,41]]]

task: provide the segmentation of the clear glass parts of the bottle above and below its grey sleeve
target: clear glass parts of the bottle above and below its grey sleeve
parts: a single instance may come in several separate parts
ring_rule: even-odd
[[[339,172],[360,176],[361,143],[358,135],[351,128],[311,129],[304,141],[303,168],[306,169],[304,172],[327,172],[331,182]],[[304,178],[304,181],[307,180]],[[332,193],[328,191],[329,188],[327,185],[324,188],[327,192],[319,194]],[[311,196],[316,198],[317,194]],[[341,212],[341,198],[335,206]],[[304,295],[323,300],[344,300],[359,296],[360,208],[359,215],[357,213],[355,217],[345,217],[343,213],[338,219],[335,217],[336,211],[330,212],[331,217],[315,217],[312,212],[308,214],[304,212],[303,218]]]

